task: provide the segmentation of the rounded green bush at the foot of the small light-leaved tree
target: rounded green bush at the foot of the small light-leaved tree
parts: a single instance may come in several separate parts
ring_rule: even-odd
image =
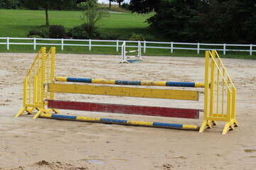
[[[68,35],[71,38],[75,38],[75,39],[94,39],[100,34],[97,32],[95,27],[90,28],[90,26],[88,26],[87,23],[84,23],[80,26],[71,28]]]

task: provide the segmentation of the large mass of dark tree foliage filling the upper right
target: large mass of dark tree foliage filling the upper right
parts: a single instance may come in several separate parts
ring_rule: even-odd
[[[156,14],[146,21],[170,40],[256,42],[255,0],[131,0],[137,13]]]

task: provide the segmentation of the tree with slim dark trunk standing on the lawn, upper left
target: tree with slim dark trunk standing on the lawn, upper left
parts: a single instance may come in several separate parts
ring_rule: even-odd
[[[74,0],[20,0],[21,4],[29,9],[41,9],[46,11],[46,26],[49,26],[48,10],[50,9],[65,9],[74,5]]]

